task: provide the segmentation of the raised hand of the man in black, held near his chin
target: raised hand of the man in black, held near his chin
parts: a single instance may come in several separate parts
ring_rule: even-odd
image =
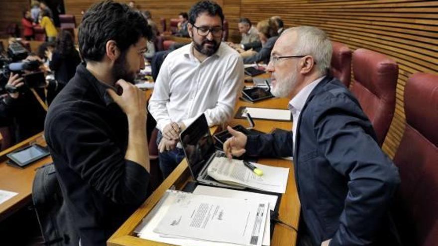
[[[114,102],[120,106],[121,110],[125,112],[128,119],[141,117],[146,120],[146,96],[143,91],[124,80],[118,80],[115,84],[122,87],[122,94],[117,95],[114,90],[107,89],[108,94],[112,97]]]

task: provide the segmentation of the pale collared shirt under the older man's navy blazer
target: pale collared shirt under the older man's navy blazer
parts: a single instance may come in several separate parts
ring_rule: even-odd
[[[292,100],[289,101],[288,108],[292,112],[292,117],[294,117],[294,124],[292,124],[292,138],[294,141],[294,151],[295,151],[295,139],[297,136],[297,124],[298,119],[301,114],[301,110],[303,110],[304,104],[307,101],[307,98],[309,97],[310,93],[312,93],[312,90],[318,85],[319,82],[321,82],[324,79],[325,76],[315,80],[314,82],[311,82],[310,84],[306,85]]]

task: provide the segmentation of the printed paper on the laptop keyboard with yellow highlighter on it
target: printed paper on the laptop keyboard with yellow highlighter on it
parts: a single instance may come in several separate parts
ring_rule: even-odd
[[[209,176],[220,181],[245,185],[247,187],[276,193],[285,193],[289,168],[252,163],[263,171],[257,176],[241,160],[215,157],[209,164]]]

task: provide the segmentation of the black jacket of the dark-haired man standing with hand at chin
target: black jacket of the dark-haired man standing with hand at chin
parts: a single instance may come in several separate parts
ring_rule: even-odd
[[[124,159],[128,122],[107,88],[79,65],[45,122],[45,139],[82,246],[106,245],[147,197],[149,173]]]

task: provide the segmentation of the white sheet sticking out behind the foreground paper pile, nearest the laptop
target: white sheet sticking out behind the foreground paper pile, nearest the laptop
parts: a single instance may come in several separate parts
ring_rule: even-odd
[[[244,200],[258,200],[258,201],[268,201],[269,209],[271,211],[275,210],[275,205],[277,204],[278,196],[268,195],[256,192],[248,192],[241,190],[231,190],[219,187],[212,187],[206,185],[198,185],[196,186],[193,194],[197,195],[209,195],[209,196],[218,196],[218,197],[227,197],[227,198],[235,198],[235,199],[244,199]],[[271,227],[270,227],[271,215],[268,213],[268,218],[265,223],[265,232],[263,234],[263,246],[271,245]]]

